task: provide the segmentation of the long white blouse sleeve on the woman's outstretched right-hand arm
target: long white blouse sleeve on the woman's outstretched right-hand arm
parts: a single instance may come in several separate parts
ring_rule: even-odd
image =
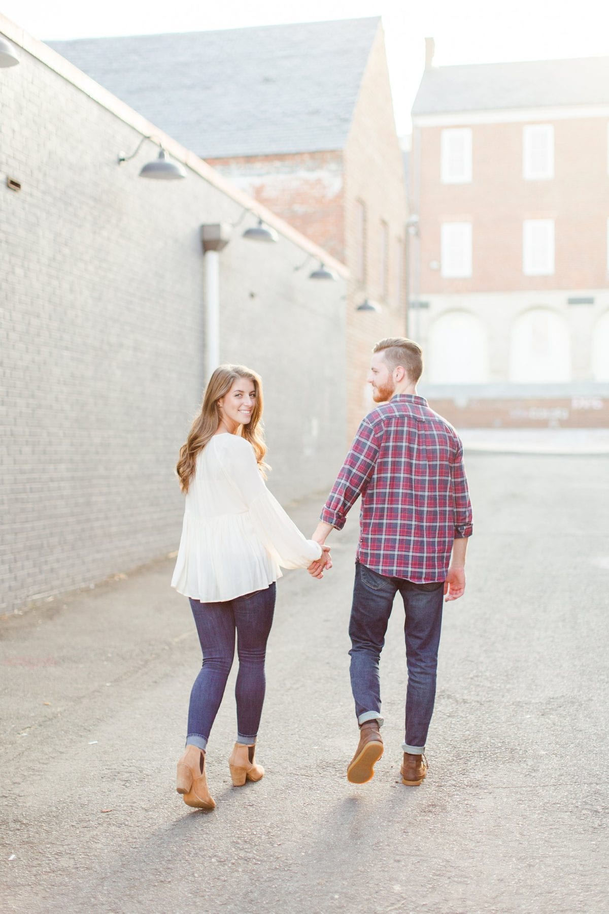
[[[254,450],[245,439],[237,439],[223,465],[226,476],[247,505],[257,536],[269,555],[284,569],[308,568],[320,558],[319,543],[306,539],[286,514],[260,475]]]

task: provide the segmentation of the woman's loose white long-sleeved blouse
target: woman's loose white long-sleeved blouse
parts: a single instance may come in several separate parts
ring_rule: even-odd
[[[305,539],[268,491],[254,449],[219,434],[197,456],[172,587],[201,602],[264,590],[284,569],[307,568],[321,547]]]

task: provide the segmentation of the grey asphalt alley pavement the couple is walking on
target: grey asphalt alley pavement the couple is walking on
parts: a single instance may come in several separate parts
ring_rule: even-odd
[[[420,787],[400,781],[399,598],[385,751],[358,732],[347,624],[357,538],[279,581],[257,784],[234,788],[236,669],[208,746],[212,813],[174,792],[200,664],[173,560],[0,621],[0,909],[28,914],[602,914],[607,909],[609,469],[470,452],[467,591],[446,605]],[[272,481],[269,483],[272,489]],[[323,494],[291,514],[308,534]]]

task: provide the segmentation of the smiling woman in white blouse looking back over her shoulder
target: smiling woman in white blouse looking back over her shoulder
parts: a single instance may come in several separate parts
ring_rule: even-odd
[[[228,760],[233,783],[259,781],[254,759],[265,695],[265,653],[275,582],[286,569],[322,577],[328,547],[305,539],[268,492],[260,420],[262,382],[242,366],[215,369],[176,470],[185,498],[172,587],[190,598],[203,651],[188,710],[177,792],[188,806],[213,809],[205,750],[235,654],[237,737]]]

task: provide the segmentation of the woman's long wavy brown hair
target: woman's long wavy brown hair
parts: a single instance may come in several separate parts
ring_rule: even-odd
[[[264,442],[264,433],[262,429],[262,380],[251,368],[243,365],[221,365],[215,369],[212,377],[209,378],[201,412],[194,419],[191,430],[188,432],[186,443],[180,448],[180,457],[175,470],[180,478],[180,488],[184,493],[188,492],[188,486],[194,476],[196,468],[196,458],[203,451],[205,445],[215,435],[220,424],[220,409],[218,400],[226,396],[232,388],[237,377],[244,377],[254,382],[256,388],[256,405],[252,410],[252,416],[247,425],[241,426],[241,437],[249,441],[254,448],[256,460],[260,472],[264,476],[265,469],[268,469],[264,462],[267,453],[267,445]]]

